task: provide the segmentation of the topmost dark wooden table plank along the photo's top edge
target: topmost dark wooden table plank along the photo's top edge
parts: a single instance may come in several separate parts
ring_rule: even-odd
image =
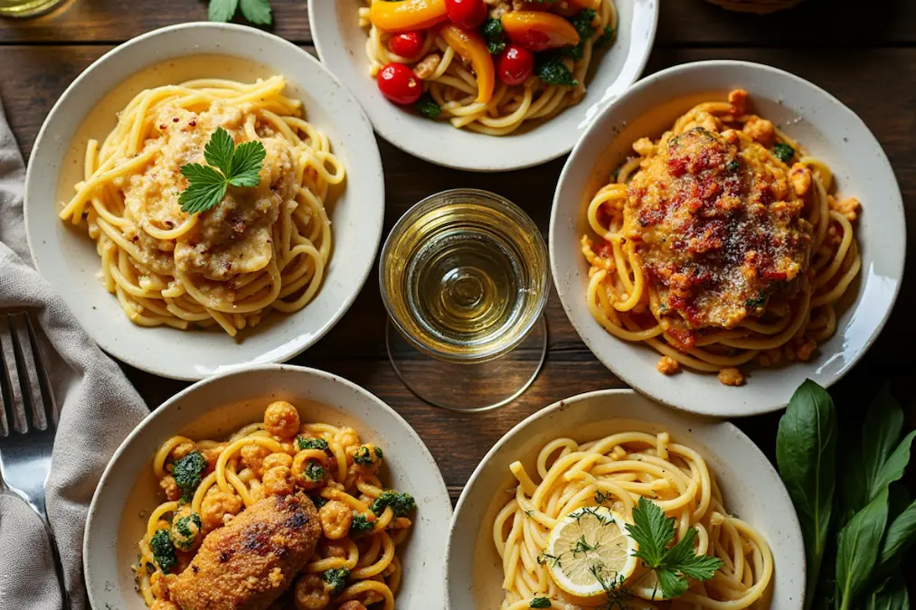
[[[361,0],[322,0],[359,2]],[[273,0],[269,30],[311,42],[305,0]],[[0,22],[0,43],[121,42],[157,27],[205,20],[202,0],[137,5],[131,0],[70,0],[46,16]],[[916,3],[884,0],[879,9],[807,0],[770,16],[730,13],[701,0],[661,0],[659,46],[867,47],[916,43]]]

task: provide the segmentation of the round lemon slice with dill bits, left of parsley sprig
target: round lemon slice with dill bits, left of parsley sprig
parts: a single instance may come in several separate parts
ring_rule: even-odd
[[[604,585],[629,578],[636,548],[624,517],[610,508],[585,507],[553,528],[544,558],[553,582],[587,603],[605,596]]]

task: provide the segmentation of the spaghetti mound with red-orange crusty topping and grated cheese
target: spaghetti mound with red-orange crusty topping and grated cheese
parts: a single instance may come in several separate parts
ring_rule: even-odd
[[[634,145],[588,206],[583,235],[594,319],[626,341],[740,385],[737,366],[807,360],[833,335],[861,267],[859,203],[747,93],[701,103],[656,143]]]

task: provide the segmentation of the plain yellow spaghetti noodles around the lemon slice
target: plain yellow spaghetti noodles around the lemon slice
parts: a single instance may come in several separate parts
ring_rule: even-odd
[[[692,582],[685,594],[671,601],[660,600],[649,582],[651,572],[635,572],[617,592],[618,599],[624,600],[622,607],[739,610],[753,605],[767,590],[773,574],[767,540],[728,515],[703,457],[671,442],[667,432],[627,431],[582,444],[556,439],[538,453],[537,484],[521,463],[512,463],[509,469],[518,486],[493,524],[505,574],[501,610],[578,607],[551,578],[549,562],[563,561],[545,558],[551,529],[575,511],[595,506],[612,507],[632,523],[640,497],[676,519],[677,540],[695,528],[695,552],[717,557],[723,564],[711,580]],[[584,539],[583,547],[587,547]],[[546,598],[550,605],[532,604],[538,598]]]

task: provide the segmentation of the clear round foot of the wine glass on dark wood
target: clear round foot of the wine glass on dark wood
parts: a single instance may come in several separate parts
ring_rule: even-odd
[[[502,407],[528,389],[547,354],[547,321],[541,315],[515,349],[479,364],[443,362],[423,354],[390,318],[385,339],[391,365],[418,398],[435,407],[476,412]]]

